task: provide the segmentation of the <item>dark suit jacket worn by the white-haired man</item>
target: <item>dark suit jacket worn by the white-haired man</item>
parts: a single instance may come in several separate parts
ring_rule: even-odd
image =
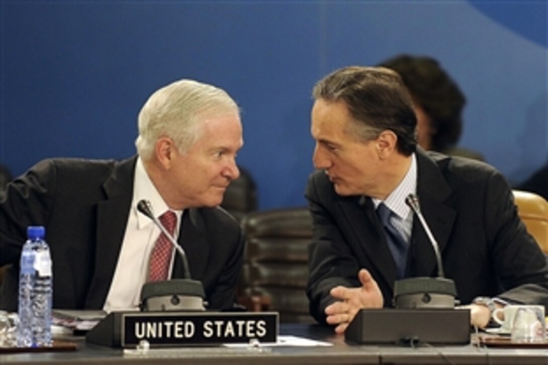
[[[19,257],[26,227],[44,225],[53,259],[53,306],[100,309],[122,246],[133,197],[136,157],[117,161],[47,159],[0,195],[0,265],[8,271],[0,308],[16,310]],[[202,281],[212,309],[234,301],[243,235],[220,208],[186,209],[179,243],[191,276]],[[182,277],[176,256],[173,277]]]

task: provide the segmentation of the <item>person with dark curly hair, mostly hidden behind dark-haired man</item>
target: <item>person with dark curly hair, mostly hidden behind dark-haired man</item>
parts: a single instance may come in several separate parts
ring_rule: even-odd
[[[417,118],[418,142],[423,149],[484,161],[480,153],[458,147],[466,98],[437,60],[401,54],[379,66],[399,73],[409,90]]]

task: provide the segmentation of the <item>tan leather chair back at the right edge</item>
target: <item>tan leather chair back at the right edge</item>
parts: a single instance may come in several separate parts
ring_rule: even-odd
[[[548,202],[532,192],[512,190],[518,215],[527,231],[536,239],[540,248],[548,255]]]

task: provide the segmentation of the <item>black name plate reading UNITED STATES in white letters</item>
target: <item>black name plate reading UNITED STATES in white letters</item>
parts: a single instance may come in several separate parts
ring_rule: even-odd
[[[135,348],[208,346],[276,342],[277,312],[111,312],[92,328],[85,340],[94,345]]]

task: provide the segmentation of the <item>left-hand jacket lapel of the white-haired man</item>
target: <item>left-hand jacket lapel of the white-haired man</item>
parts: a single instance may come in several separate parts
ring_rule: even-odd
[[[88,308],[102,307],[114,277],[133,197],[135,162],[133,157],[117,163],[103,185],[106,199],[97,204],[95,271],[85,304]]]

